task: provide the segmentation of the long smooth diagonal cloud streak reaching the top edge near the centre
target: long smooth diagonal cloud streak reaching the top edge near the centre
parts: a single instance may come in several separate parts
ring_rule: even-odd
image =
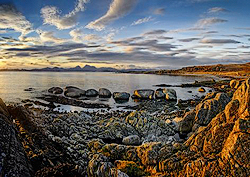
[[[137,0],[113,0],[107,13],[101,18],[90,22],[86,28],[102,31],[111,22],[128,14],[136,2]]]

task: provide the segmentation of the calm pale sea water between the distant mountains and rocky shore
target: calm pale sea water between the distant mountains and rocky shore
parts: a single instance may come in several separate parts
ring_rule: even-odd
[[[96,72],[0,72],[0,97],[7,103],[20,102],[23,99],[35,98],[41,92],[53,86],[76,86],[82,89],[108,88],[111,92],[125,91],[130,94],[135,89],[157,89],[156,84],[182,84],[192,83],[195,80],[211,79],[200,76],[166,76],[145,74],[121,74],[121,73],[96,73]],[[34,88],[32,92],[24,91]],[[202,95],[197,88],[174,88],[180,99],[193,98],[193,95]],[[192,90],[193,93],[188,93]],[[92,102],[117,105],[114,100],[91,100]],[[135,104],[130,100],[127,104]]]

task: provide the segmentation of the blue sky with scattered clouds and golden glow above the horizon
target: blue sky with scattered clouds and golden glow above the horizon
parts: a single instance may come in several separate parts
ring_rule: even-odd
[[[249,0],[0,0],[0,68],[250,62]]]

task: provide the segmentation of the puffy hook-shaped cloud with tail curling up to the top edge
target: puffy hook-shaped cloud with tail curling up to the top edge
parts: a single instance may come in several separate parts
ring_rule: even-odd
[[[69,29],[77,25],[77,16],[79,12],[85,10],[84,5],[89,0],[78,0],[75,9],[70,13],[61,16],[60,10],[55,6],[46,6],[41,9],[41,15],[44,24],[56,26],[57,29]]]

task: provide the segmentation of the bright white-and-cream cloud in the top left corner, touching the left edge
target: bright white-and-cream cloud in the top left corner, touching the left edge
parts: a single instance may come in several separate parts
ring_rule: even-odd
[[[32,24],[11,4],[0,5],[0,28],[20,32],[19,39],[33,31]]]

